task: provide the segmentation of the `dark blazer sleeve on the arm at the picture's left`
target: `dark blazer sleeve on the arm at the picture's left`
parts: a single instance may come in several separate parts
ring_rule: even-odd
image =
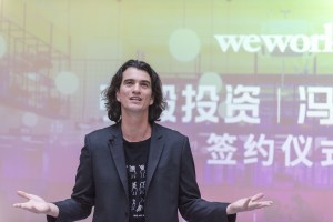
[[[75,185],[70,199],[54,202],[59,208],[59,216],[47,216],[48,222],[70,222],[85,219],[94,205],[94,184],[91,162],[89,137],[84,139],[84,147],[80,154],[80,164],[75,175]]]

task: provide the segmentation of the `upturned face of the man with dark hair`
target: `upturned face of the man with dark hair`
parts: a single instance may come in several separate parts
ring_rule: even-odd
[[[128,68],[122,75],[117,100],[121,103],[121,112],[147,113],[153,103],[150,75],[137,68]]]

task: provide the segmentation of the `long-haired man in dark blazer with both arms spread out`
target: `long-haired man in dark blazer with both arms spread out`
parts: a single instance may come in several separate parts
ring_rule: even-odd
[[[189,138],[160,124],[165,109],[162,83],[145,62],[129,60],[103,92],[115,124],[85,137],[71,199],[48,203],[28,199],[21,208],[48,221],[175,222],[178,210],[189,222],[235,221],[235,213],[272,204],[263,194],[231,204],[200,196]]]

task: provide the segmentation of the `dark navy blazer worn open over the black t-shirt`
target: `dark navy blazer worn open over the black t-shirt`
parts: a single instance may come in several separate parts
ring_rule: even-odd
[[[93,222],[128,222],[129,191],[120,124],[85,135],[71,199],[56,202],[58,219],[70,222],[90,215]],[[147,222],[178,222],[178,210],[189,222],[235,221],[228,203],[202,200],[188,137],[153,123],[147,167]]]

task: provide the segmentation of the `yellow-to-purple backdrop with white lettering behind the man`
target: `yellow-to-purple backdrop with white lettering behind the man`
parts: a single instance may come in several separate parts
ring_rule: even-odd
[[[332,8],[0,0],[0,220],[46,221],[11,206],[17,190],[70,196],[84,134],[112,124],[100,93],[139,59],[164,83],[160,123],[190,137],[203,198],[274,201],[240,222],[331,221]]]

